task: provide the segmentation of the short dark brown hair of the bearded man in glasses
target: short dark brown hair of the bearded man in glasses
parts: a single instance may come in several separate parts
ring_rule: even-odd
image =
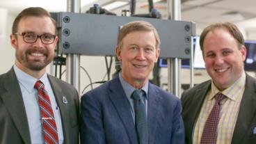
[[[56,21],[51,17],[51,15],[45,10],[44,8],[40,7],[30,7],[22,10],[19,15],[15,18],[13,22],[13,29],[12,33],[15,34],[17,33],[19,22],[21,19],[24,19],[25,17],[49,17],[54,24],[55,27],[55,34],[57,34],[57,26],[56,26]]]

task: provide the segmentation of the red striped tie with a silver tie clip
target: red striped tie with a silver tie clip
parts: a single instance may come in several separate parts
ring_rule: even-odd
[[[45,90],[45,85],[42,81],[36,81],[35,86],[38,90],[38,103],[42,118],[42,131],[45,138],[45,143],[58,144],[58,131],[54,119],[54,112],[51,109],[51,101]]]

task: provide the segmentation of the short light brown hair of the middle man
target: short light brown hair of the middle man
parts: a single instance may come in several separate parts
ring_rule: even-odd
[[[152,24],[145,21],[134,21],[129,22],[122,26],[118,33],[118,47],[122,48],[122,40],[125,38],[125,36],[128,33],[134,32],[134,31],[153,31],[154,37],[156,38],[156,47],[159,48],[160,45],[160,38],[157,33],[157,29],[154,28]]]

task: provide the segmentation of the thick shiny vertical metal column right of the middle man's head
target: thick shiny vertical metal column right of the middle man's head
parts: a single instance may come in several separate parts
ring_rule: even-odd
[[[172,3],[170,0],[168,3],[168,18],[173,20],[180,20],[181,9],[180,9],[180,0],[173,0]],[[172,10],[172,13],[171,13]],[[180,93],[180,83],[179,83],[179,67],[180,62],[179,58],[168,58],[168,90],[171,93],[179,97]]]

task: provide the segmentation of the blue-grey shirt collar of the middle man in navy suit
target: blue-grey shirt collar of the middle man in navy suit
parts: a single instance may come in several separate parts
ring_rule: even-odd
[[[127,81],[125,81],[125,79],[122,78],[122,74],[119,73],[118,77],[120,79],[120,83],[122,85],[122,88],[125,90],[125,94],[127,95],[128,98],[131,97],[131,94],[134,92],[134,90],[136,90],[136,88],[134,88],[133,86],[131,86],[129,83],[127,83]],[[145,83],[145,85],[141,88],[144,92],[145,92],[145,98],[147,99],[147,91],[148,91],[148,81]]]

